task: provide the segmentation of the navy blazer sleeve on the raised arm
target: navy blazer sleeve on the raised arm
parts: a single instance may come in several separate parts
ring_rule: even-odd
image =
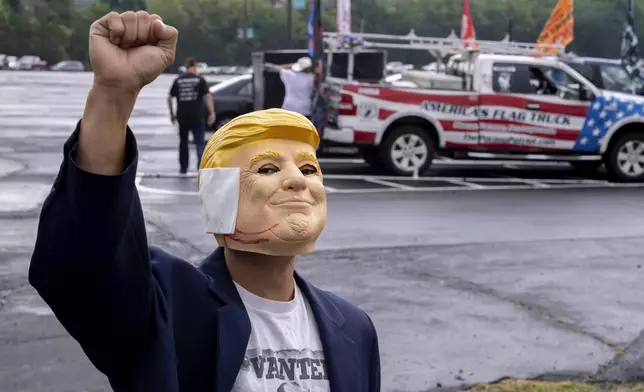
[[[98,370],[120,376],[164,327],[165,303],[151,273],[134,135],[128,127],[124,171],[105,176],[76,165],[79,131],[80,122],[40,213],[29,282]]]

